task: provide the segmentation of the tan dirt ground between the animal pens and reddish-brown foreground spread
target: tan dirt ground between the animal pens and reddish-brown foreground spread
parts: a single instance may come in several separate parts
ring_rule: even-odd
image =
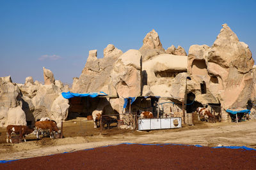
[[[85,118],[68,120],[63,124],[63,139],[49,137],[36,139],[34,134],[27,136],[26,143],[6,143],[6,131],[0,129],[0,160],[13,160],[28,157],[74,152],[99,146],[119,143],[178,143],[202,146],[247,146],[256,148],[256,121],[240,123],[198,123],[180,129],[156,131],[134,131],[117,129],[93,129],[92,121]]]

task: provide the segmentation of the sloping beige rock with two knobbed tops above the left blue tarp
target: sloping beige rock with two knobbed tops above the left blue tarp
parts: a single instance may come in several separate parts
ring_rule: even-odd
[[[79,78],[73,79],[72,92],[105,92],[111,96],[116,96],[116,90],[109,82],[113,69],[113,65],[122,55],[122,51],[115,48],[114,45],[108,45],[104,49],[104,58],[97,59],[97,52],[95,50],[89,52],[88,60]],[[95,58],[91,53],[95,54]]]

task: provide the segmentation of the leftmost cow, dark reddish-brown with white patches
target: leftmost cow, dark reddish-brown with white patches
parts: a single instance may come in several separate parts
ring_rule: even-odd
[[[20,134],[20,139],[24,138],[24,141],[26,142],[26,135],[31,134],[34,131],[34,129],[26,126],[26,125],[8,125],[6,127],[6,142],[12,143],[12,134]]]

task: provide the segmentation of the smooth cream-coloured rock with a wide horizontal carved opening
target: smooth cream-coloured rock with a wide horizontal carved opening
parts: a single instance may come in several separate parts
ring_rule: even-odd
[[[187,56],[161,54],[142,63],[143,95],[170,97],[175,77],[187,71]],[[149,91],[148,91],[149,90]]]

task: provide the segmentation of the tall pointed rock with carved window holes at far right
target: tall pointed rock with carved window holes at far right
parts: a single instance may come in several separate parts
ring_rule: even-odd
[[[222,27],[211,47],[189,48],[188,73],[193,83],[188,90],[202,104],[220,103],[223,110],[246,108],[252,94],[252,53],[227,24]],[[222,113],[227,121],[227,113]]]

